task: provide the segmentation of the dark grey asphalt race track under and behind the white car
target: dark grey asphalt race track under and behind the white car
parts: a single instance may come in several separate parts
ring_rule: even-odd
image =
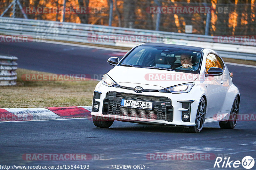
[[[0,53],[17,56],[20,68],[58,74],[104,74],[112,68],[106,60],[123,52],[49,43],[1,43]],[[119,53],[119,54],[118,54]],[[121,57],[121,56],[120,56]],[[256,114],[256,68],[228,65],[241,93],[239,114]],[[1,106],[4,107],[4,106]],[[145,165],[145,169],[213,168],[212,160],[148,160],[148,153],[210,153],[242,160],[256,158],[256,121],[239,121],[234,130],[218,123],[205,124],[199,134],[179,128],[115,121],[109,129],[96,128],[90,119],[0,123],[1,165]],[[87,161],[29,161],[26,153],[89,153]],[[102,159],[94,157],[102,154]],[[232,164],[231,164],[232,166]],[[112,168],[113,169],[113,168]],[[236,169],[244,169],[241,165]],[[256,165],[252,169],[256,169]]]

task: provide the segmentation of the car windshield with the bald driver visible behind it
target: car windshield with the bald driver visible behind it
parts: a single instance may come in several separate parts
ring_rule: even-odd
[[[119,66],[143,67],[198,74],[202,52],[171,47],[138,46]]]

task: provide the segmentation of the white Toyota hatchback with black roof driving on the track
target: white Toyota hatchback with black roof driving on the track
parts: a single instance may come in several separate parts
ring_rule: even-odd
[[[92,120],[184,127],[198,133],[205,123],[233,129],[240,93],[215,51],[194,46],[144,43],[133,47],[105,74],[93,95]]]

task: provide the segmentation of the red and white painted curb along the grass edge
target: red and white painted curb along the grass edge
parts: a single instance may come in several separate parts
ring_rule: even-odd
[[[48,108],[0,108],[0,122],[90,118],[92,106]]]

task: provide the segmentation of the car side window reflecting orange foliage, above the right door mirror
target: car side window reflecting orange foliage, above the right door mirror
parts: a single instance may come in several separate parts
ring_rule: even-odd
[[[224,63],[218,57],[217,55],[214,54],[209,54],[206,58],[206,63],[205,63],[205,73],[207,74],[209,68],[211,67],[219,67],[224,69]]]

